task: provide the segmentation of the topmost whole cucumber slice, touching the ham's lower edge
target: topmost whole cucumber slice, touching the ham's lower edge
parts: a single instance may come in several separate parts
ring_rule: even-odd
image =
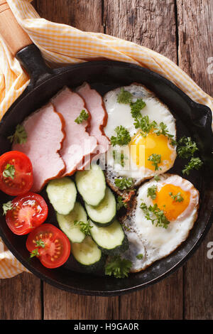
[[[77,171],[75,174],[77,190],[88,205],[99,205],[105,195],[106,181],[104,172],[96,164],[88,171]]]

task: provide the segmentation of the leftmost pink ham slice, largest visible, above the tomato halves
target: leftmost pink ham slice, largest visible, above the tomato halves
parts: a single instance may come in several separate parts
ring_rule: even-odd
[[[45,183],[57,178],[65,171],[65,163],[58,153],[65,139],[64,122],[55,112],[53,104],[47,104],[34,112],[24,122],[27,141],[14,144],[13,150],[21,151],[33,164],[33,188],[38,193]]]

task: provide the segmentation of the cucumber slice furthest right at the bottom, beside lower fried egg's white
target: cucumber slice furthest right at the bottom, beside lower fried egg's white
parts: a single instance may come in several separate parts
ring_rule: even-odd
[[[98,227],[91,221],[89,223],[92,226],[91,237],[102,252],[114,256],[128,249],[128,239],[118,220],[107,227]]]

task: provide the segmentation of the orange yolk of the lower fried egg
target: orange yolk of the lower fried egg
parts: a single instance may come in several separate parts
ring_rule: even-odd
[[[180,193],[183,200],[180,202],[175,200],[170,193],[173,193],[173,196]],[[166,184],[156,192],[156,198],[153,200],[153,203],[157,203],[158,208],[164,211],[165,217],[168,220],[175,220],[190,204],[190,191],[182,190],[177,185]]]

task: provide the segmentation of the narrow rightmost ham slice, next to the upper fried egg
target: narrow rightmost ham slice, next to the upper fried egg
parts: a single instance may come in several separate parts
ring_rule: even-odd
[[[109,149],[109,139],[104,134],[104,126],[107,125],[107,112],[102,97],[96,90],[92,90],[87,82],[77,88],[77,93],[86,102],[86,107],[92,117],[88,132],[97,138],[99,153],[105,153]]]

